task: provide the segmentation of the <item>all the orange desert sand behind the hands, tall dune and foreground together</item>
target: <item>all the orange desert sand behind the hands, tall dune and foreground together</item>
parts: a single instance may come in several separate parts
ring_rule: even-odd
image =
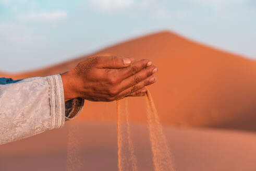
[[[164,31],[99,53],[149,58],[150,86],[176,170],[256,170],[256,61]],[[88,55],[88,56],[90,56]],[[88,56],[20,74],[67,71]],[[144,97],[129,97],[138,170],[153,170]],[[0,170],[66,170],[68,128],[75,128],[83,170],[117,170],[116,103],[86,101],[63,129],[0,146]],[[217,128],[217,129],[214,129]]]

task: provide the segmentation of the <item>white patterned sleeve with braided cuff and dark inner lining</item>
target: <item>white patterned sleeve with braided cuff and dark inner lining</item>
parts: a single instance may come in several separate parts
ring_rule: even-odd
[[[64,126],[77,117],[84,100],[65,104],[60,75],[35,77],[0,85],[0,144]]]

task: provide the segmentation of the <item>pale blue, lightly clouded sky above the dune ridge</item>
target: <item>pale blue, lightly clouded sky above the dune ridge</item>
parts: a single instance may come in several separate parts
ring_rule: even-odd
[[[0,0],[0,70],[53,65],[161,30],[256,59],[255,0]]]

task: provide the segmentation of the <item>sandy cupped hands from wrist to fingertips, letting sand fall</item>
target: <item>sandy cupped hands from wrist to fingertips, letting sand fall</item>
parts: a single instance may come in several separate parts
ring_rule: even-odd
[[[93,56],[62,74],[65,101],[114,101],[143,96],[144,87],[156,81],[157,67],[148,59],[135,61],[117,56]]]

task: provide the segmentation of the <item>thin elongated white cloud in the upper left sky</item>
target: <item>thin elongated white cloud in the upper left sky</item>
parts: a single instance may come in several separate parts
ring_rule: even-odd
[[[63,10],[43,11],[39,13],[28,13],[17,16],[18,21],[32,22],[54,22],[67,18],[67,12]]]

